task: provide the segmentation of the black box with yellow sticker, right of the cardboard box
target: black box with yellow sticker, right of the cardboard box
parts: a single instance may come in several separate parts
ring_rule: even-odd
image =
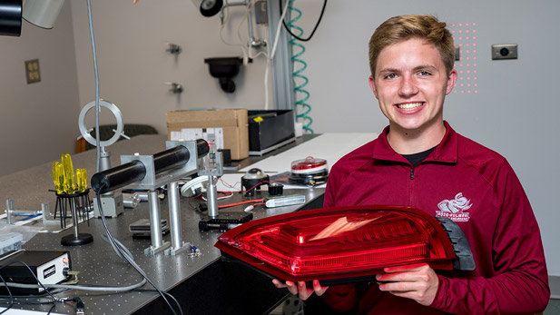
[[[262,155],[296,140],[292,110],[249,111],[249,154]]]

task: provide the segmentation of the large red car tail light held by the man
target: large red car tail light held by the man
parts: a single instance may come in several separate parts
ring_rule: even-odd
[[[418,262],[450,270],[456,257],[435,218],[395,206],[315,209],[251,221],[222,234],[215,247],[285,281],[359,278]]]

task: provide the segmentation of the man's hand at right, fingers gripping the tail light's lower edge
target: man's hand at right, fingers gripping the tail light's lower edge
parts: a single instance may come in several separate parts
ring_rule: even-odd
[[[384,268],[387,273],[378,274],[379,290],[402,298],[416,300],[418,303],[429,306],[436,298],[439,280],[436,272],[426,263],[401,267]]]

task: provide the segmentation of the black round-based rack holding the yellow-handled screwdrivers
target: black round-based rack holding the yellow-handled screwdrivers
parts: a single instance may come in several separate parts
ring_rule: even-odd
[[[87,221],[89,226],[89,214],[87,210],[90,205],[89,189],[85,192],[74,193],[56,193],[56,206],[54,207],[54,218],[56,212],[60,211],[60,224],[62,228],[66,227],[66,219],[68,218],[68,210],[72,212],[72,221],[74,233],[63,236],[61,244],[64,246],[84,245],[93,241],[92,234],[80,233],[78,231],[78,217],[82,221]]]

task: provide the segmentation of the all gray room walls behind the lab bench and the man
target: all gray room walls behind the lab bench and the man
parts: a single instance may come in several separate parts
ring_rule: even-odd
[[[263,57],[241,70],[235,79],[238,92],[232,95],[221,92],[203,64],[206,57],[241,55],[238,47],[221,43],[217,16],[202,17],[188,0],[92,3],[101,95],[121,108],[125,123],[150,123],[165,133],[165,112],[170,110],[262,108]],[[322,0],[296,3],[303,11],[298,24],[306,34],[321,4]],[[447,98],[445,115],[458,132],[511,162],[534,206],[549,272],[560,275],[555,244],[560,239],[560,212],[555,209],[560,166],[555,162],[559,145],[554,130],[560,114],[555,97],[560,63],[554,57],[560,51],[558,12],[560,2],[555,0],[331,0],[302,56],[308,63],[312,127],[316,133],[379,132],[387,124],[368,87],[367,43],[389,16],[434,14],[449,24],[476,23],[477,52],[469,54],[476,56],[477,93],[473,89],[461,94],[457,89]],[[241,17],[241,9],[231,10],[224,29],[230,42],[237,39]],[[268,34],[264,28],[257,31]],[[182,54],[175,58],[166,53],[167,42],[181,44]],[[491,61],[490,44],[505,43],[519,44],[519,59]],[[72,152],[77,115],[94,97],[85,1],[67,1],[54,30],[25,23],[22,37],[0,37],[0,55],[0,174]],[[37,57],[43,81],[27,85],[24,61]],[[180,97],[171,94],[163,84],[169,81],[184,84],[185,92]]]

